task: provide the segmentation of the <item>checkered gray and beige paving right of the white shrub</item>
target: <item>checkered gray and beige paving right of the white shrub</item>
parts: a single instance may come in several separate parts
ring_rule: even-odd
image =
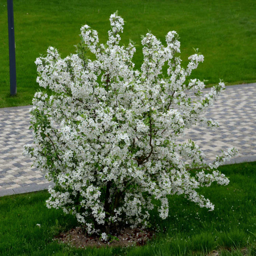
[[[238,160],[256,161],[256,83],[227,86],[204,116],[217,121],[220,127],[211,130],[192,126],[182,139],[196,142],[207,162],[230,147],[238,149]]]

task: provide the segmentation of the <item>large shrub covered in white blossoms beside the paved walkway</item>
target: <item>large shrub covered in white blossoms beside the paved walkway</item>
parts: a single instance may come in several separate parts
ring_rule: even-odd
[[[110,23],[105,45],[84,25],[77,54],[62,59],[49,47],[47,56],[36,59],[37,82],[52,95],[36,92],[30,109],[34,144],[25,145],[36,167],[56,185],[49,187],[47,206],[75,215],[88,233],[102,239],[122,225],[147,226],[150,210],[157,207],[152,199],[158,201],[159,216],[168,217],[167,195],[183,194],[213,210],[196,189],[214,181],[227,185],[217,168],[236,154],[229,149],[207,165],[193,141],[177,142],[193,124],[218,126],[202,113],[224,83],[203,95],[204,83],[188,79],[203,55],[190,56],[183,68],[178,34],[169,32],[163,46],[149,32],[141,41],[141,70],[134,70],[134,43],[119,44],[123,19],[114,13]]]

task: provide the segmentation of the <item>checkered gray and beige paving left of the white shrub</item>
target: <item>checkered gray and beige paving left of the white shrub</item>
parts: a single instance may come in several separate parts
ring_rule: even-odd
[[[49,182],[22,155],[24,144],[33,143],[29,118],[29,106],[0,109],[0,190]]]

